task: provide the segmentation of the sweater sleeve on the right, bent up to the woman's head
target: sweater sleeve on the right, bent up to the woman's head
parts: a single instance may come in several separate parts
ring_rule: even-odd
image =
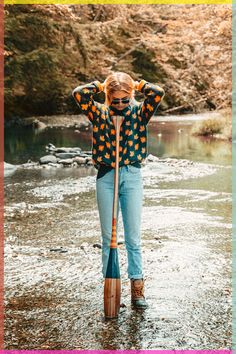
[[[137,89],[145,96],[144,102],[141,103],[141,117],[145,124],[148,124],[151,117],[155,114],[155,111],[162,98],[165,95],[164,90],[158,86],[151,84],[145,80],[141,80]]]

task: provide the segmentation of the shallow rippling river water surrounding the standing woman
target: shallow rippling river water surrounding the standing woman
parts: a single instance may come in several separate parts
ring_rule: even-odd
[[[131,307],[121,243],[122,307],[104,319],[93,167],[5,178],[5,349],[232,347],[231,146],[193,138],[190,118],[149,126],[159,159],[142,168],[145,311]]]

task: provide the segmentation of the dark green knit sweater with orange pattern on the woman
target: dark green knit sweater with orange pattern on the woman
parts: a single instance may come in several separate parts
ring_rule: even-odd
[[[93,124],[92,158],[95,167],[104,164],[115,168],[116,132],[113,115],[124,116],[120,128],[119,166],[142,162],[147,156],[147,124],[164,96],[164,90],[141,80],[138,90],[145,96],[142,103],[129,105],[122,111],[95,102],[93,95],[101,91],[101,83],[94,81],[78,86],[73,96],[82,112]]]

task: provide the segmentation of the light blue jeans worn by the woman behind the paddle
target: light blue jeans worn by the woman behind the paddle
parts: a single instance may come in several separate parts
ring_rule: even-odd
[[[102,273],[105,278],[112,233],[114,169],[97,179],[96,196],[102,233]],[[143,184],[141,168],[132,165],[119,168],[119,209],[121,209],[125,245],[128,255],[128,277],[142,279],[141,211]],[[119,215],[119,214],[118,214]],[[118,219],[117,215],[117,219]]]

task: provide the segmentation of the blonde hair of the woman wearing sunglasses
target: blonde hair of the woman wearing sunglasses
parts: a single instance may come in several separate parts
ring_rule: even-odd
[[[111,104],[111,95],[116,91],[124,91],[131,98],[134,97],[135,83],[130,75],[123,72],[116,72],[109,75],[105,80],[104,92],[106,94],[105,104]]]

